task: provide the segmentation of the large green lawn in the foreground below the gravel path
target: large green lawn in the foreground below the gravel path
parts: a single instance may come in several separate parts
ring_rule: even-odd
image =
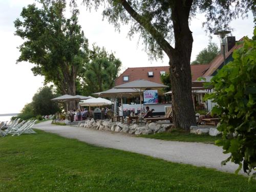
[[[241,175],[36,132],[0,138],[0,191],[256,191]]]

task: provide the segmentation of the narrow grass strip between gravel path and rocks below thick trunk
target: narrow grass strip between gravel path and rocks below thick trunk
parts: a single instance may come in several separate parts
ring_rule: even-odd
[[[140,137],[161,139],[167,141],[183,141],[183,142],[201,142],[214,144],[216,140],[221,139],[221,135],[212,137],[210,135],[196,135],[184,131],[172,131],[157,133],[155,135],[141,135]]]

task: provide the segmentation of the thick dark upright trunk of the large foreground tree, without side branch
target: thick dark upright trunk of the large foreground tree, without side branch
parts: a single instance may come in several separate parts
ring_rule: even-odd
[[[196,125],[190,69],[193,36],[188,24],[191,2],[187,1],[184,5],[182,1],[176,1],[172,9],[175,50],[169,56],[174,125],[185,130],[189,130],[191,125]]]

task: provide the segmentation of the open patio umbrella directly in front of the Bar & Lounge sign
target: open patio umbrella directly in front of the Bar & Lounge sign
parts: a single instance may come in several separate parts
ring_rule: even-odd
[[[141,103],[141,90],[145,90],[147,88],[166,88],[168,86],[165,86],[161,83],[156,83],[152,81],[148,81],[145,79],[139,79],[131,82],[127,82],[124,84],[120,84],[119,86],[114,87],[115,89],[133,89],[135,91],[138,91],[140,93],[140,110],[142,111],[142,103]],[[141,123],[142,123],[142,113],[141,113]]]

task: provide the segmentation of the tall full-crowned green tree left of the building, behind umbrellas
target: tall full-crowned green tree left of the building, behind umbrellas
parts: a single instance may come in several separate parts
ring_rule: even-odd
[[[39,2],[42,8],[28,5],[20,14],[23,19],[14,22],[15,35],[25,40],[17,62],[34,63],[34,75],[45,76],[45,82],[53,82],[62,94],[75,95],[76,79],[89,57],[88,39],[78,25],[78,10],[73,9],[67,19],[63,15],[65,0]]]

